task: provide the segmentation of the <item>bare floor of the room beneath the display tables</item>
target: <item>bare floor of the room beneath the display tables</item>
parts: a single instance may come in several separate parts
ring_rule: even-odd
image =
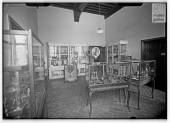
[[[126,104],[119,102],[118,91],[96,93],[92,97],[91,118],[165,118],[165,93],[155,90],[155,98],[151,88],[143,87],[140,106],[137,110],[137,95],[131,94],[130,111]],[[89,106],[86,106],[87,84],[85,78],[79,77],[76,82],[64,79],[50,80],[47,90],[48,118],[89,118]]]

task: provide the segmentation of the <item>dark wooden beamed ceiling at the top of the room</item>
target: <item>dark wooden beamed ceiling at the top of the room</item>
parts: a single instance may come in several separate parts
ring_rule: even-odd
[[[116,13],[123,7],[141,6],[142,3],[26,3],[27,6],[34,7],[60,7],[70,9],[74,13],[74,21],[79,22],[82,12],[104,16],[105,19]],[[100,11],[99,11],[100,5]]]

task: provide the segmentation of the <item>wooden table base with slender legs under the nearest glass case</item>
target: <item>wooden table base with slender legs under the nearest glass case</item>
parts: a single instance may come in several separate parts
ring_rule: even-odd
[[[108,83],[108,84],[96,84],[96,85],[89,85],[88,86],[88,98],[87,98],[87,105],[90,104],[90,112],[89,112],[89,117],[91,117],[92,114],[92,103],[91,103],[91,98],[92,95],[96,92],[101,92],[101,91],[109,91],[109,90],[115,90],[119,89],[119,101],[120,101],[120,89],[126,89],[128,90],[128,98],[127,98],[127,107],[129,109],[129,98],[130,98],[130,93],[129,93],[129,85],[127,83]],[[124,91],[124,96],[125,96],[125,91]],[[126,97],[126,96],[125,96]]]

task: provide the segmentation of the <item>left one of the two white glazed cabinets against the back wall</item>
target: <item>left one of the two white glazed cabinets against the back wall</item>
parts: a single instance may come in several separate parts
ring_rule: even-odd
[[[49,79],[64,78],[64,65],[68,63],[69,46],[47,43]]]

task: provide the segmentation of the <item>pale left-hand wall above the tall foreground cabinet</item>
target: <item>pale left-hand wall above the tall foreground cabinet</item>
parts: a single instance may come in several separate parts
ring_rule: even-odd
[[[4,4],[4,29],[9,29],[8,16],[12,17],[24,29],[32,29],[38,35],[37,11],[25,4]]]

